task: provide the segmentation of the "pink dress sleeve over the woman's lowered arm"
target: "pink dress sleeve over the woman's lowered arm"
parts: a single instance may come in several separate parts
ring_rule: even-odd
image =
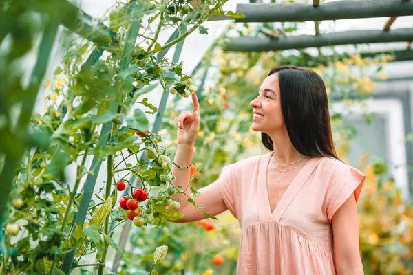
[[[339,160],[335,160],[334,162],[335,167],[331,170],[332,175],[330,175],[330,182],[326,194],[326,210],[330,223],[335,212],[353,194],[353,192],[356,203],[359,201],[361,188],[363,188],[366,179],[366,175],[356,168],[343,164]]]

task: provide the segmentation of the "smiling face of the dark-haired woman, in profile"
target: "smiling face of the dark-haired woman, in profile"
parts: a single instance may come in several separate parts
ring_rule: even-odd
[[[264,79],[257,97],[251,101],[250,105],[254,108],[251,126],[253,131],[271,135],[273,132],[285,128],[277,74],[271,74]]]

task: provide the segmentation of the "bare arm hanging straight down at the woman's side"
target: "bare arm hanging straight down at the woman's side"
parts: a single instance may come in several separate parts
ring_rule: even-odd
[[[337,274],[364,274],[359,251],[359,220],[354,193],[335,212],[331,223]]]

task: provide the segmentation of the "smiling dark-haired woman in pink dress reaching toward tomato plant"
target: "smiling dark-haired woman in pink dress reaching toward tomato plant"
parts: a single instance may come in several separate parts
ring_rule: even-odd
[[[176,118],[175,184],[189,182],[200,115]],[[205,212],[229,210],[240,222],[237,274],[363,274],[357,201],[366,176],[341,162],[332,141],[328,97],[310,69],[272,69],[251,102],[253,131],[271,151],[224,167],[195,199]],[[189,190],[187,191],[189,194]],[[205,219],[177,195],[184,218]]]

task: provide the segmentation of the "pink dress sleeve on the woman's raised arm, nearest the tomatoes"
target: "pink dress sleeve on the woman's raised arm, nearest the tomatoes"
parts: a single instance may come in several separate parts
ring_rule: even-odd
[[[220,186],[220,192],[222,195],[222,199],[224,199],[224,203],[226,208],[228,208],[229,212],[233,214],[235,218],[237,218],[237,211],[235,208],[236,201],[234,199],[234,192],[235,192],[235,185],[233,183],[233,166],[235,164],[231,164],[228,166],[224,166],[222,168],[222,173],[220,177],[217,179],[218,186]]]

